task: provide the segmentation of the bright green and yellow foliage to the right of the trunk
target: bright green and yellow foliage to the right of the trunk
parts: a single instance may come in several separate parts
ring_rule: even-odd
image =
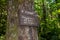
[[[60,0],[35,0],[34,7],[40,17],[39,40],[60,40]]]

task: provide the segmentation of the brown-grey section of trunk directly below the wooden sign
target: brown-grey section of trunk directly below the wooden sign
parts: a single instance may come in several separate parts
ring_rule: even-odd
[[[18,29],[18,40],[38,40],[37,28],[20,26]]]

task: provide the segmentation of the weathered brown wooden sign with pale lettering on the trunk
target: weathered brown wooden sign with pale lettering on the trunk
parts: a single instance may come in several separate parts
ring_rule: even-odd
[[[38,17],[35,12],[20,10],[19,17],[20,25],[38,26]]]

